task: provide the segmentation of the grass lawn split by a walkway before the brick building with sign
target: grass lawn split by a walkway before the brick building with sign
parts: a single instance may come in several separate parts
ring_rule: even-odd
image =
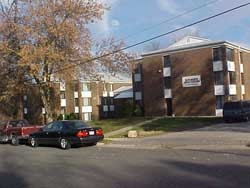
[[[92,121],[92,126],[102,127],[104,133],[115,131],[127,126],[136,125],[138,123],[149,120],[150,118],[144,117],[131,117],[123,119],[107,119],[100,121]],[[151,118],[152,119],[152,118]],[[167,117],[157,119],[150,123],[145,123],[141,126],[134,127],[133,130],[137,130],[140,136],[151,136],[155,134],[161,134],[164,132],[176,132],[191,130],[209,126],[216,123],[221,123],[222,118],[217,117]],[[140,134],[141,133],[141,134]],[[127,132],[119,134],[115,137],[127,136]],[[113,136],[112,136],[113,137]]]

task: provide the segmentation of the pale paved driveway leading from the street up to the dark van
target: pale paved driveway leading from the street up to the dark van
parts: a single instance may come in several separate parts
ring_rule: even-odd
[[[212,126],[166,133],[145,138],[115,138],[105,147],[134,149],[244,149],[250,145],[250,121],[221,123]]]

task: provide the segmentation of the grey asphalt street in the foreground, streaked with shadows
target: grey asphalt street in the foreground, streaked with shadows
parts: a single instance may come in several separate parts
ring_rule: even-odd
[[[250,150],[0,145],[1,188],[249,188]]]

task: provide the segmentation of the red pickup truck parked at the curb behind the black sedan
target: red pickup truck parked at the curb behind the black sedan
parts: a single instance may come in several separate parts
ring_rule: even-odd
[[[20,141],[28,141],[29,134],[41,129],[41,125],[30,125],[25,119],[0,121],[0,142],[18,145]]]

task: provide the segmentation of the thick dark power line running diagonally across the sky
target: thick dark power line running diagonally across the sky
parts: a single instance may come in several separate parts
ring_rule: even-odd
[[[98,60],[98,59],[101,59],[101,58],[107,57],[107,56],[109,56],[109,55],[112,55],[112,54],[115,54],[115,53],[118,53],[118,52],[121,52],[121,51],[124,51],[124,50],[130,49],[130,48],[133,48],[133,47],[139,46],[139,45],[141,45],[141,44],[144,44],[144,43],[150,42],[150,41],[152,41],[152,40],[155,40],[155,39],[161,38],[161,37],[163,37],[163,36],[166,36],[166,35],[169,35],[169,34],[175,33],[175,32],[177,32],[177,31],[180,31],[180,30],[186,29],[186,28],[188,28],[188,27],[191,27],[191,26],[194,26],[194,25],[200,24],[200,23],[202,23],[202,22],[205,22],[205,21],[211,20],[211,19],[213,19],[213,18],[216,18],[216,17],[219,17],[219,16],[221,16],[221,15],[227,14],[227,13],[229,13],[229,12],[232,12],[232,11],[238,10],[238,9],[243,8],[243,7],[245,7],[245,6],[248,6],[248,5],[250,5],[250,2],[245,3],[245,4],[242,4],[242,5],[239,5],[239,6],[236,6],[236,7],[231,8],[231,9],[228,9],[228,10],[223,11],[223,12],[220,12],[220,13],[218,13],[218,14],[215,14],[215,15],[212,15],[212,16],[209,16],[209,17],[206,17],[206,18],[204,18],[204,19],[198,20],[198,21],[193,22],[193,23],[191,23],[191,24],[188,24],[188,25],[185,25],[185,26],[179,27],[179,28],[177,28],[177,29],[171,30],[171,31],[169,31],[169,32],[166,32],[166,33],[163,33],[163,34],[157,35],[157,36],[155,36],[155,37],[152,37],[152,38],[146,39],[146,40],[144,40],[144,41],[141,41],[141,42],[138,42],[138,43],[135,43],[135,44],[129,45],[129,46],[124,47],[124,48],[121,48],[121,49],[119,49],[119,50],[114,50],[114,51],[112,51],[112,52],[110,52],[110,53],[107,53],[107,54],[104,54],[104,55],[101,55],[101,56],[98,56],[98,57],[94,57],[94,58],[92,58],[92,59],[90,59],[90,60],[87,60],[87,61],[84,61],[84,62],[80,62],[80,63],[75,64],[75,65],[70,65],[69,67],[65,67],[65,68],[63,68],[63,69],[59,69],[59,70],[55,71],[54,73],[58,73],[58,72],[61,72],[61,71],[63,71],[63,70],[67,70],[67,69],[70,69],[70,68],[74,68],[74,67],[76,67],[76,66],[80,66],[80,65],[82,65],[83,63],[89,63],[89,62],[92,62],[92,61],[96,61],[96,60]],[[52,73],[52,74],[53,74],[53,73]]]

